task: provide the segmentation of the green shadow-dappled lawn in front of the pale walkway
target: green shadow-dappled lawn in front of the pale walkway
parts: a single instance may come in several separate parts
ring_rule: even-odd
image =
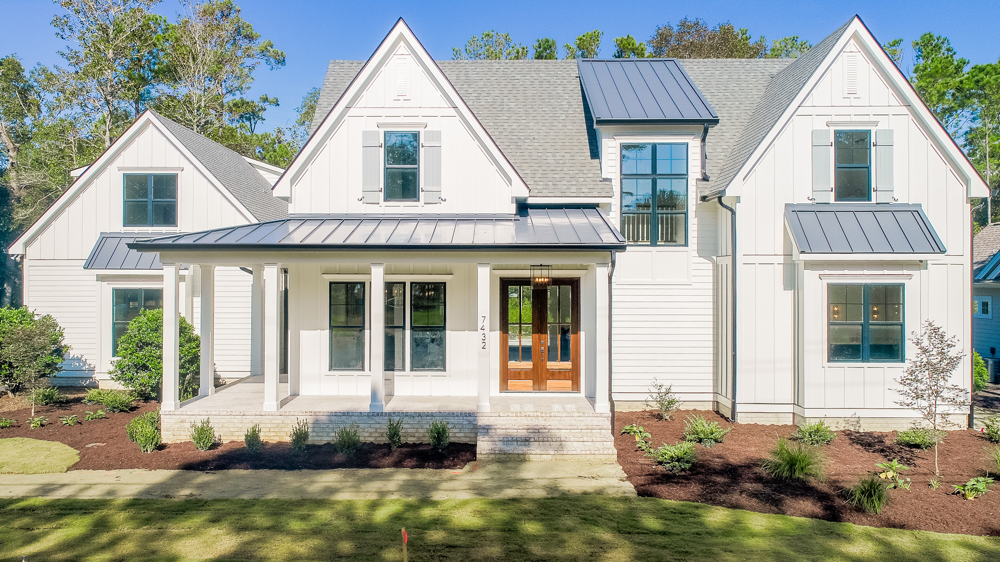
[[[762,515],[652,498],[0,499],[0,559],[1000,560],[1000,539]]]

